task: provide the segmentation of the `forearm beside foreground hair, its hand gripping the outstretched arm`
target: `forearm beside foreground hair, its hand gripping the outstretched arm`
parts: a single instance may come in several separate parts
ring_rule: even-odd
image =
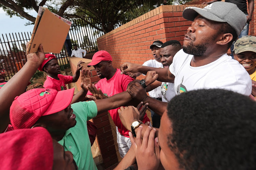
[[[168,102],[162,102],[149,96],[143,100],[143,103],[148,103],[148,108],[150,108],[159,116],[163,115],[163,112],[165,112],[168,105]]]

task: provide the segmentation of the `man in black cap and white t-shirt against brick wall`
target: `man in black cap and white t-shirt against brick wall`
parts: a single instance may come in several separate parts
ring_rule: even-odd
[[[162,68],[163,65],[161,63],[161,57],[160,57],[160,48],[162,46],[162,41],[154,41],[153,44],[150,46],[151,53],[153,57],[155,58],[154,60],[148,60],[145,63],[143,63],[142,66],[148,66],[148,67],[154,67],[154,68]],[[140,72],[130,74],[130,77],[136,78],[139,75],[141,75]],[[145,75],[145,74],[143,74]],[[150,97],[156,99],[156,100],[162,100],[161,98],[161,87],[156,87],[155,89],[148,91],[148,94]],[[157,115],[154,111],[151,110],[151,118],[152,118],[152,126],[154,128],[159,128],[160,127],[160,119],[161,117]]]

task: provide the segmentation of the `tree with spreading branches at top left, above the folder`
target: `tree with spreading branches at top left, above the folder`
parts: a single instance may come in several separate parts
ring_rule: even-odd
[[[32,23],[35,22],[35,17],[29,15],[26,11],[35,10],[38,12],[39,6],[46,6],[50,11],[59,16],[63,16],[65,10],[74,2],[74,0],[0,0],[0,7],[10,16],[18,16],[26,18]],[[60,3],[60,4],[58,4]],[[61,5],[59,8],[58,6]]]

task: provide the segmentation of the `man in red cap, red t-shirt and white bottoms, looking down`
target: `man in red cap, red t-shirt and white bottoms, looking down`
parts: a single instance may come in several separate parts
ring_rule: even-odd
[[[111,55],[104,50],[98,51],[94,54],[91,63],[88,64],[88,67],[90,66],[94,66],[98,77],[101,79],[95,86],[93,85],[92,88],[94,89],[94,91],[101,92],[102,95],[100,96],[100,98],[111,97],[120,92],[126,91],[128,84],[134,80],[128,75],[121,75],[120,69],[115,69],[112,66]],[[89,87],[91,86],[89,85]],[[87,97],[93,94],[88,91]],[[128,152],[129,148],[131,147],[131,141],[128,134],[129,131],[123,126],[122,122],[120,121],[117,112],[118,109],[119,108],[109,110],[109,113],[116,125],[117,143],[120,156],[124,157],[125,154]],[[142,117],[141,121],[143,123],[150,122],[147,114],[144,115],[144,119]]]

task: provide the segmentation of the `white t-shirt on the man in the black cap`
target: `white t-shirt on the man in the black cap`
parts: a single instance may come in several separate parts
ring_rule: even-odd
[[[143,63],[142,66],[148,66],[148,67],[154,67],[154,68],[163,67],[162,63],[159,63],[156,60],[148,60],[145,63]],[[143,75],[145,75],[145,74],[143,74]],[[149,91],[148,94],[150,95],[150,97],[161,98],[161,87],[159,86],[159,87]]]

